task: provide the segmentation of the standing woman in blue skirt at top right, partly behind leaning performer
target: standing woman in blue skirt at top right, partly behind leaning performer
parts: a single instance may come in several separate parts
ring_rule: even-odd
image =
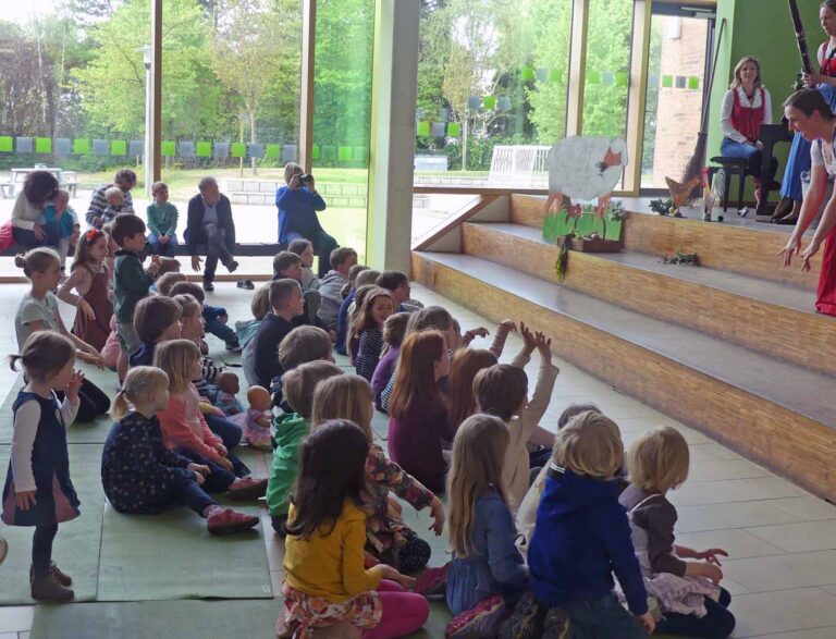
[[[836,108],[836,0],[824,0],[819,22],[828,40],[819,47],[819,73],[803,75],[804,84],[817,88],[831,108]],[[795,224],[801,210],[801,173],[810,171],[810,143],[796,133],[780,187],[780,201],[772,221]]]

